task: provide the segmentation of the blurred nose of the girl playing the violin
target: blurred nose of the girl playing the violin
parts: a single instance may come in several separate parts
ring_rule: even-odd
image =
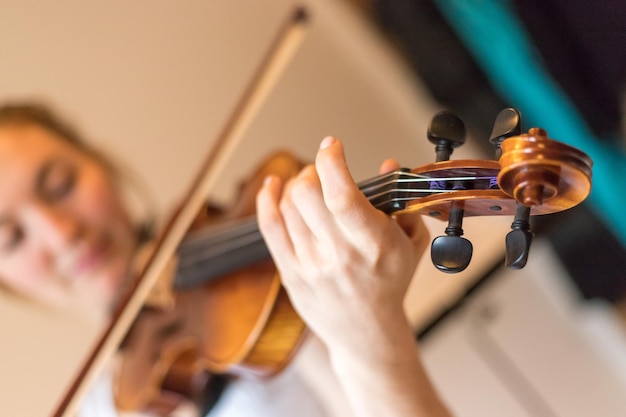
[[[63,207],[38,203],[29,217],[30,234],[52,250],[64,249],[79,238],[80,220]]]

